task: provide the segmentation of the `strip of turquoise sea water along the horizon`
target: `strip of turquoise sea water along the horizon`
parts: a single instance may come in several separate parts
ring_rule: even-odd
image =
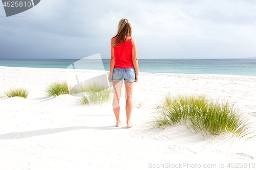
[[[56,60],[3,60],[1,66],[67,68],[75,59]],[[81,61],[81,60],[80,60]],[[139,71],[184,74],[221,74],[256,76],[256,59],[139,59]],[[110,59],[83,60],[82,69],[110,70]]]

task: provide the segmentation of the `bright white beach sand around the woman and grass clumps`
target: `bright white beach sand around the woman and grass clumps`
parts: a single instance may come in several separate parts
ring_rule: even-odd
[[[201,168],[216,164],[216,168],[202,169],[232,169],[228,163],[255,169],[255,139],[220,140],[217,136],[210,140],[182,125],[147,130],[150,126],[146,122],[152,120],[151,113],[156,112],[157,103],[167,92],[230,99],[254,121],[256,76],[139,72],[133,99],[146,103],[144,109],[133,109],[132,123],[136,126],[130,129],[126,124],[115,127],[112,102],[82,106],[77,96],[49,98],[44,92],[54,80],[76,85],[75,75],[81,82],[102,74],[104,71],[0,66],[2,94],[10,87],[30,90],[28,99],[0,99],[0,169],[160,169],[150,167],[179,163],[188,163],[191,169],[196,163]],[[120,114],[125,123],[124,97]],[[220,168],[223,163],[225,168]],[[189,169],[186,167],[173,169]]]

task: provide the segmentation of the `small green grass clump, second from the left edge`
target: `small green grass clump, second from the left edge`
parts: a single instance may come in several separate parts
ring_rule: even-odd
[[[70,89],[71,87],[68,85],[67,81],[55,81],[47,86],[45,92],[47,92],[49,96],[55,98],[61,94],[70,94]]]

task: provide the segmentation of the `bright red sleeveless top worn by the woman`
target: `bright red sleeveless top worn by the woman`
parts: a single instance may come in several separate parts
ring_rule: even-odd
[[[116,37],[115,37],[116,41]],[[132,37],[126,40],[123,44],[121,41],[117,46],[114,47],[115,66],[114,68],[133,68],[132,58]],[[121,45],[122,44],[122,45]],[[120,46],[121,45],[121,46]]]

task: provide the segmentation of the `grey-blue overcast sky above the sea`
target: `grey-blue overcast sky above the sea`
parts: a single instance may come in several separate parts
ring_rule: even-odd
[[[0,58],[110,59],[122,17],[138,59],[256,57],[255,0],[41,0],[11,17],[0,6]]]

